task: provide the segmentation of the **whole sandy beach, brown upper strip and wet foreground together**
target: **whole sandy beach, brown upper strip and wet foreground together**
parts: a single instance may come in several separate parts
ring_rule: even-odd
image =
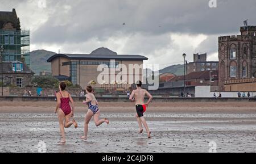
[[[138,134],[133,103],[100,103],[101,117],[110,124],[89,124],[83,134],[86,107],[76,103],[79,128],[65,129],[67,143],[60,140],[55,102],[1,102],[0,152],[256,152],[254,102],[152,103],[145,113],[152,138]]]

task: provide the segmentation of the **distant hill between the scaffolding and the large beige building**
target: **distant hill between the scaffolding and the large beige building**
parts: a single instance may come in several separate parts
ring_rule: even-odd
[[[47,62],[47,59],[54,54],[56,53],[51,51],[46,51],[44,49],[39,49],[39,50],[30,52],[31,70],[36,75],[39,75],[39,73],[42,71],[51,72],[52,71],[51,63]]]

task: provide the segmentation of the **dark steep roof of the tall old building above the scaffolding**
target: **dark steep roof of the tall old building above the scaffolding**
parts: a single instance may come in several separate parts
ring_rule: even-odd
[[[16,30],[20,30],[20,22],[15,9],[13,11],[0,11],[0,29],[8,22],[13,23]]]

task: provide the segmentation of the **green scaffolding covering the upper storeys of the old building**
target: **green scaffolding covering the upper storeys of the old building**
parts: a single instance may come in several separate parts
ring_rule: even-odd
[[[30,67],[30,31],[0,30],[0,45],[3,45],[3,61],[22,61]]]

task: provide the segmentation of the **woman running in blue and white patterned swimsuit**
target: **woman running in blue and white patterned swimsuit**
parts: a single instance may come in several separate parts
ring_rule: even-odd
[[[108,119],[99,119],[100,117],[100,109],[98,108],[98,101],[96,100],[94,94],[93,94],[93,89],[92,86],[87,86],[86,87],[86,95],[85,95],[86,99],[84,101],[82,101],[83,104],[87,104],[88,105],[88,111],[86,113],[85,116],[85,122],[84,122],[84,136],[81,136],[82,140],[86,140],[87,139],[87,134],[88,134],[88,124],[90,122],[90,119],[94,119],[94,123],[95,125],[98,127],[100,126],[102,123],[107,123],[109,124],[109,120]]]

